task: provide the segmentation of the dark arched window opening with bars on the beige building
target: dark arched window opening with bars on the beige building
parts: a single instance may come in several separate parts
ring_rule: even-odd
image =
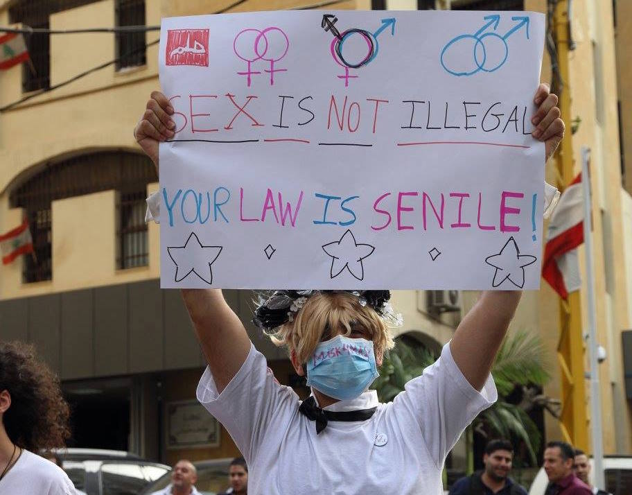
[[[33,257],[24,257],[23,281],[53,277],[52,202],[111,189],[119,191],[116,266],[147,265],[146,189],[148,183],[157,180],[148,157],[103,151],[46,164],[42,171],[19,184],[10,194],[10,205],[24,208],[35,250]]]

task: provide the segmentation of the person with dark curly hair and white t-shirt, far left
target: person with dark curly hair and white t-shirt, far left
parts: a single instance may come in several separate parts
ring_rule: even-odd
[[[36,452],[62,447],[69,409],[33,345],[0,342],[0,494],[76,495],[67,474]]]

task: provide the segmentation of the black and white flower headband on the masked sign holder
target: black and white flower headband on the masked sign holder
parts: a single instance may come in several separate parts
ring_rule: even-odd
[[[346,293],[358,297],[360,306],[367,304],[380,318],[394,327],[401,326],[400,313],[394,313],[389,303],[389,290],[275,290],[272,295],[259,294],[252,322],[256,327],[272,331],[282,324],[294,321],[295,315],[315,293]]]

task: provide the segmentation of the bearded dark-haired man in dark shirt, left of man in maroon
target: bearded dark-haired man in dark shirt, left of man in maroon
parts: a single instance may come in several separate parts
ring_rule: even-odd
[[[509,478],[514,446],[507,440],[492,440],[485,447],[485,469],[457,480],[449,495],[527,495],[526,490]]]

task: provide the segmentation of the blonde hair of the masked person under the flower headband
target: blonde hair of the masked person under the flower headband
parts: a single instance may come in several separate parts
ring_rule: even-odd
[[[295,315],[294,321],[282,324],[270,333],[277,346],[287,345],[295,351],[299,363],[306,363],[324,333],[343,330],[349,336],[353,327],[367,330],[376,354],[394,347],[392,333],[380,315],[368,304],[362,306],[358,297],[346,293],[315,293],[308,297]]]

